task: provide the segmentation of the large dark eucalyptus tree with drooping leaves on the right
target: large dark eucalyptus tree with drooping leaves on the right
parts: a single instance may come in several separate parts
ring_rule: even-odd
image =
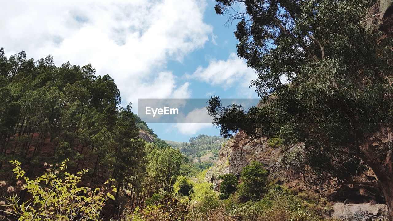
[[[262,101],[244,111],[222,107],[213,97],[208,110],[221,134],[243,130],[250,138],[301,144],[299,162],[310,166],[311,175],[337,186],[380,186],[393,220],[392,38],[378,29],[380,22],[367,20],[379,3],[217,0],[215,10],[222,15],[237,3],[245,6],[230,16],[240,19],[237,54],[256,70],[251,85]],[[378,182],[354,182],[366,169],[362,165]]]

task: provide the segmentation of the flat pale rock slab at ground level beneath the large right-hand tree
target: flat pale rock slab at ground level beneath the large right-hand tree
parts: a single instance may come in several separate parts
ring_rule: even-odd
[[[385,204],[336,203],[333,205],[332,217],[351,221],[389,220],[387,217],[387,206]]]

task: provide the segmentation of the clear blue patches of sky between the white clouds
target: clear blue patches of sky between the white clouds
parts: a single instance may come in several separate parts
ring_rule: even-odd
[[[180,79],[184,79],[185,73],[194,72],[199,66],[209,66],[209,61],[227,60],[231,53],[236,53],[237,39],[235,39],[233,32],[236,30],[236,22],[227,23],[226,16],[220,16],[215,13],[214,1],[208,1],[208,6],[204,12],[204,22],[213,27],[215,35],[215,42],[209,41],[205,46],[199,50],[189,53],[185,56],[184,61],[170,61],[168,69]],[[237,79],[241,81],[242,79]],[[212,95],[217,95],[220,98],[257,98],[253,90],[249,88],[222,88],[220,85],[211,85],[209,83],[198,81],[194,79],[190,82],[191,98],[210,98]],[[244,91],[244,94],[242,92]],[[251,91],[251,93],[250,93]],[[173,124],[169,123],[148,123],[149,127],[158,134],[163,140],[174,140],[178,142],[187,142],[190,136],[197,136],[198,134],[208,134],[219,136],[219,128],[204,127],[193,134],[174,133]]]

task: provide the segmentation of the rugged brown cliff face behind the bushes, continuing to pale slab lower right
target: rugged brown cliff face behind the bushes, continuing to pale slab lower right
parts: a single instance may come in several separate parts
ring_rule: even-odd
[[[294,146],[293,149],[300,146]],[[309,184],[303,179],[298,179],[299,174],[290,171],[281,165],[281,149],[267,144],[265,139],[249,140],[246,134],[240,132],[225,145],[219,153],[219,160],[206,173],[206,182],[212,182],[215,190],[219,190],[220,182],[218,177],[226,173],[233,173],[240,176],[241,170],[247,166],[251,160],[262,162],[266,170],[269,171],[270,179],[276,180],[279,184],[295,188],[300,192],[305,190],[312,192],[322,192],[328,187],[324,183]],[[373,176],[372,172],[367,174]],[[361,181],[362,177],[358,178]],[[329,190],[322,194],[323,197],[332,202],[334,205],[334,217],[346,218],[343,220],[365,221],[365,220],[385,220],[387,206],[385,204],[376,204],[383,202],[379,197],[378,190],[369,187],[360,186],[343,186],[335,190]],[[378,199],[378,197],[380,199]]]

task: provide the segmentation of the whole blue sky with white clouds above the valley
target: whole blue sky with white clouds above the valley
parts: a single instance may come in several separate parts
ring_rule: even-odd
[[[257,98],[255,71],[236,55],[236,23],[215,0],[4,1],[0,47],[60,66],[92,64],[109,74],[121,105],[138,98]],[[237,11],[243,10],[242,6]],[[163,140],[219,135],[210,123],[149,123]]]

